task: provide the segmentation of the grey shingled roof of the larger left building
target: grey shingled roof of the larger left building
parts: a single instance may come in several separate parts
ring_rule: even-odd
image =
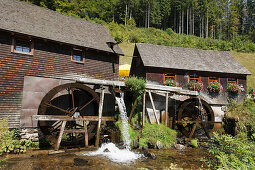
[[[45,38],[67,44],[116,52],[123,55],[115,45],[114,51],[107,42],[114,42],[108,30],[71,16],[18,0],[0,0],[0,29]]]

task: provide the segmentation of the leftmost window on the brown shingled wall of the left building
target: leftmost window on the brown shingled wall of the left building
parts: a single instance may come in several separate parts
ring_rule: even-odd
[[[33,41],[27,37],[14,37],[11,52],[33,55]]]

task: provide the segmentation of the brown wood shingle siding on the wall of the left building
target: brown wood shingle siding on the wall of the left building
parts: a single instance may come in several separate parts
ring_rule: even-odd
[[[84,64],[75,63],[70,59],[73,46],[39,38],[33,38],[34,55],[12,53],[11,37],[0,31],[0,117],[9,117],[11,127],[20,124],[24,76],[118,80],[117,54],[87,49]]]

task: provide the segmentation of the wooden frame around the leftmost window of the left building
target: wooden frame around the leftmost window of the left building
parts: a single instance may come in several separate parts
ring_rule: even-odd
[[[17,40],[29,42],[30,43],[29,52],[23,52],[23,51],[16,50],[15,48],[16,48]],[[33,41],[33,39],[30,37],[26,37],[26,36],[17,36],[17,35],[12,36],[11,52],[19,53],[19,54],[26,54],[26,55],[34,55],[34,41]]]

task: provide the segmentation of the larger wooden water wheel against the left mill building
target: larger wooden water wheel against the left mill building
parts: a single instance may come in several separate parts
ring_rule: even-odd
[[[68,120],[83,116],[96,116],[98,115],[98,104],[99,96],[90,87],[79,83],[68,83],[53,88],[44,96],[38,114],[59,116],[61,119],[66,116]],[[62,124],[63,121],[60,120],[39,121],[42,132],[52,143],[56,143]],[[73,132],[75,130],[78,132],[86,126],[90,140],[95,136],[96,124],[96,121],[66,121],[65,132],[71,135],[77,143],[84,139],[84,133]]]

